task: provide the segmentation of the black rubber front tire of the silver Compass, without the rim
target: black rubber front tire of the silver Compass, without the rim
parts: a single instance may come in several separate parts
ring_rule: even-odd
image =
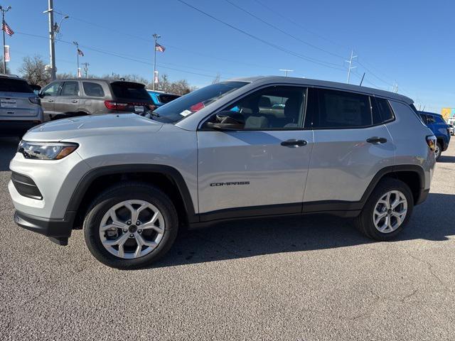
[[[109,253],[100,239],[100,224],[107,210],[125,200],[144,200],[154,205],[164,217],[164,236],[158,246],[149,254],[135,259],[122,259]],[[178,216],[176,208],[169,197],[158,188],[146,183],[127,182],[114,185],[101,193],[90,205],[84,220],[85,244],[95,258],[116,269],[139,269],[149,266],[164,256],[171,249],[178,232]]]

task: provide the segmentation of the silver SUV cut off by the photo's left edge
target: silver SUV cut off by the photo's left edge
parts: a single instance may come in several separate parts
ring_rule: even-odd
[[[0,75],[0,136],[22,136],[43,121],[40,99],[27,81]]]

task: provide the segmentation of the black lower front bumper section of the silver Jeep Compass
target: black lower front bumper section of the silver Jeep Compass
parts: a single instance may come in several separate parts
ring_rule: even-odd
[[[43,234],[59,245],[68,245],[76,212],[66,212],[64,219],[45,219],[16,211],[14,222],[24,229]]]

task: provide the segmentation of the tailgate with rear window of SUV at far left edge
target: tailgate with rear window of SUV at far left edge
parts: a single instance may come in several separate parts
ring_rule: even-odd
[[[38,104],[35,98],[36,94],[26,81],[11,77],[0,77],[1,118],[37,117]]]

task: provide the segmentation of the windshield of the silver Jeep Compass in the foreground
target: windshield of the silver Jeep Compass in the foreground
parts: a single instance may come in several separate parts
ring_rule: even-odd
[[[247,84],[247,82],[220,82],[208,85],[159,107],[154,111],[154,114],[157,114],[154,119],[166,123],[176,123]]]

